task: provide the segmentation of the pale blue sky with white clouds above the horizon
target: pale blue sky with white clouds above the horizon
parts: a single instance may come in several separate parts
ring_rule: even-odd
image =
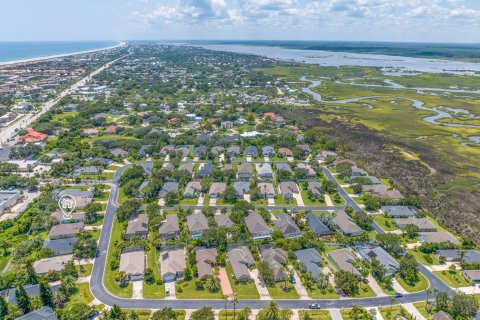
[[[480,0],[0,0],[0,41],[480,42]]]

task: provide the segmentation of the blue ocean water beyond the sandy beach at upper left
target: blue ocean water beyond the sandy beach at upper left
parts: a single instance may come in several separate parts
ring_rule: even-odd
[[[112,47],[117,41],[0,42],[0,62],[34,59]]]

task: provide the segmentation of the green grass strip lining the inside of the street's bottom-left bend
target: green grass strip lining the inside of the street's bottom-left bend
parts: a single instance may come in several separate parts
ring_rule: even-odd
[[[110,291],[113,295],[116,295],[121,298],[131,298],[132,297],[132,284],[129,283],[125,287],[121,287],[116,281],[115,281],[115,270],[112,270],[110,268],[110,264],[113,260],[113,247],[115,241],[120,241],[121,236],[122,236],[122,229],[123,225],[118,221],[117,218],[113,220],[113,226],[112,226],[112,235],[110,238],[110,245],[108,247],[108,255],[107,255],[107,262],[105,265],[105,275],[103,278],[103,283],[105,285],[105,288]]]

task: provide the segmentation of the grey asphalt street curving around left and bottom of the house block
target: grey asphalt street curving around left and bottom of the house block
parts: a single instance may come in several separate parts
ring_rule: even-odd
[[[143,162],[144,164],[146,162]],[[112,233],[113,220],[115,212],[117,210],[116,199],[118,197],[119,185],[118,180],[122,172],[131,165],[126,165],[120,168],[108,182],[111,186],[110,197],[108,199],[107,210],[103,222],[103,227],[100,234],[99,241],[99,256],[95,259],[93,265],[92,276],[90,279],[90,288],[95,296],[101,303],[112,306],[114,304],[122,308],[138,308],[138,309],[160,309],[163,307],[171,307],[173,309],[185,309],[186,306],[190,309],[197,309],[203,306],[209,306],[214,309],[222,309],[225,302],[223,300],[164,300],[164,299],[124,299],[113,296],[109,293],[103,285],[103,276],[106,266],[106,258],[108,252],[108,246],[110,242],[110,236]],[[328,175],[327,175],[328,176]],[[333,177],[332,177],[333,178]],[[346,197],[346,199],[350,199]],[[354,207],[355,208],[355,207]],[[420,272],[428,279],[431,288],[437,288],[440,291],[450,291],[451,289],[442,282],[437,276],[431,273],[427,268],[420,265]],[[424,291],[405,294],[401,298],[397,298],[397,303],[413,303],[423,301],[426,299],[426,293]],[[302,309],[307,308],[309,303],[318,303],[321,308],[348,308],[352,305],[362,307],[378,307],[390,305],[390,297],[373,297],[373,298],[360,298],[360,299],[327,299],[327,300],[277,300],[278,304],[282,308],[290,309]],[[249,307],[252,309],[263,308],[268,301],[265,300],[239,300],[237,308]]]

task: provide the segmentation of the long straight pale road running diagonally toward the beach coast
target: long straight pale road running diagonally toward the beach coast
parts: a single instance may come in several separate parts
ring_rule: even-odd
[[[92,73],[90,73],[86,77],[82,78],[80,81],[74,83],[73,85],[71,85],[70,87],[68,87],[64,91],[62,91],[59,95],[57,95],[56,98],[54,98],[52,100],[49,100],[46,103],[44,103],[43,106],[41,107],[40,111],[37,111],[35,114],[33,114],[33,113],[26,114],[19,121],[15,122],[15,123],[12,123],[8,127],[2,128],[2,130],[0,131],[0,145],[5,144],[8,141],[8,139],[15,136],[17,134],[17,132],[15,130],[18,131],[22,128],[27,128],[30,124],[32,124],[32,122],[37,120],[42,114],[44,114],[45,112],[50,110],[50,108],[52,108],[54,105],[56,105],[63,97],[71,94],[77,88],[85,85],[85,83],[87,81],[90,81],[93,76],[99,74],[100,72],[102,72],[106,68],[110,67],[113,63],[115,63],[116,61],[118,61],[122,58],[123,57],[120,57],[116,60],[110,61],[109,63],[107,63],[107,64],[103,65],[102,67],[98,68],[97,70],[93,71]]]

